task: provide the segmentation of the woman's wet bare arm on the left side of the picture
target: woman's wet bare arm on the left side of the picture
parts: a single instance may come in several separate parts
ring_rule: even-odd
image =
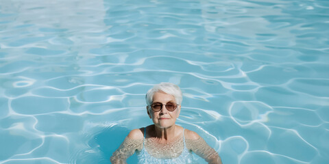
[[[143,138],[144,136],[141,129],[130,131],[120,147],[113,152],[110,158],[111,163],[127,163],[127,159],[132,156],[136,150],[143,149]]]

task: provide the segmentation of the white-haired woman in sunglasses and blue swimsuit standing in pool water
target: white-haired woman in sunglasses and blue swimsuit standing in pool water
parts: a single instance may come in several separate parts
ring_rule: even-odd
[[[137,151],[138,163],[193,163],[192,152],[208,163],[221,163],[217,152],[197,133],[175,125],[182,92],[172,83],[154,85],[146,94],[147,114],[154,124],[130,131],[112,154],[111,163],[126,163]]]

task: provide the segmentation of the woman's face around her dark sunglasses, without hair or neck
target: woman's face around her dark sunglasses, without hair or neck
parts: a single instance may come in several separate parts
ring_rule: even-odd
[[[156,92],[153,96],[153,104],[156,102],[162,103],[160,111],[153,111],[151,107],[147,107],[147,114],[152,119],[154,125],[159,128],[168,128],[175,125],[176,119],[180,115],[180,105],[177,106],[175,111],[168,111],[166,108],[167,102],[176,102],[175,97],[164,92]]]

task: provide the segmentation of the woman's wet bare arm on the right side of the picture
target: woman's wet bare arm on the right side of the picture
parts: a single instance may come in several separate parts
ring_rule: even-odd
[[[208,163],[222,164],[219,154],[211,148],[202,137],[193,131],[188,131],[186,134],[186,147],[198,156],[201,156]]]

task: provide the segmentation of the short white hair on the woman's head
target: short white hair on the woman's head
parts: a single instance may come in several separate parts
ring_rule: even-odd
[[[176,103],[178,105],[182,104],[183,96],[182,96],[182,91],[180,90],[180,87],[178,87],[178,85],[175,85],[173,83],[162,82],[162,83],[154,85],[149,91],[147,91],[147,94],[145,96],[147,105],[152,104],[154,93],[161,92],[161,91],[175,97]]]

